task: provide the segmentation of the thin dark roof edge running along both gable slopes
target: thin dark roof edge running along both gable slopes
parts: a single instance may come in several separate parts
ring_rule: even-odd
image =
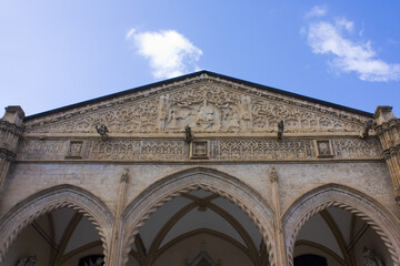
[[[354,113],[354,114],[359,114],[359,115],[363,115],[363,116],[368,116],[368,117],[373,117],[372,113],[369,113],[369,112],[366,112],[366,111],[347,108],[347,106],[343,106],[343,105],[340,105],[340,104],[330,103],[330,102],[327,102],[327,101],[322,101],[322,100],[300,95],[300,94],[297,94],[297,93],[293,93],[293,92],[287,92],[287,91],[282,91],[280,89],[266,86],[266,85],[261,85],[261,84],[258,84],[258,83],[253,83],[253,82],[231,78],[231,76],[228,76],[228,75],[213,73],[213,72],[210,72],[210,71],[207,71],[207,70],[202,70],[202,71],[193,72],[193,73],[190,73],[190,74],[181,75],[181,76],[178,76],[178,78],[172,78],[172,79],[169,79],[169,80],[159,81],[159,82],[150,83],[150,84],[147,84],[147,85],[129,89],[129,90],[126,90],[126,91],[108,94],[106,96],[94,98],[94,99],[91,99],[91,100],[88,100],[88,101],[83,101],[83,102],[74,103],[74,104],[71,104],[71,105],[49,110],[49,111],[46,111],[46,112],[42,112],[42,113],[32,114],[32,115],[27,116],[24,119],[24,121],[39,119],[39,117],[42,117],[42,116],[46,116],[46,115],[68,111],[68,110],[76,109],[76,108],[82,108],[82,106],[86,106],[86,105],[89,105],[89,104],[98,103],[98,102],[101,102],[101,101],[107,101],[107,100],[110,100],[112,98],[118,98],[118,96],[122,96],[122,95],[126,95],[126,94],[129,94],[129,93],[144,91],[144,90],[150,89],[150,88],[161,86],[163,84],[169,84],[169,83],[173,83],[173,82],[179,82],[179,81],[182,81],[182,80],[194,78],[194,76],[200,75],[200,74],[207,74],[207,75],[210,75],[210,76],[213,76],[213,78],[220,78],[220,79],[223,79],[223,80],[228,80],[228,81],[236,82],[236,83],[241,83],[241,84],[244,84],[244,85],[248,85],[248,86],[258,88],[258,89],[266,90],[266,91],[269,91],[269,92],[273,92],[273,93],[278,93],[278,94],[282,94],[282,95],[287,95],[287,96],[292,96],[292,98],[296,98],[296,99],[299,99],[299,100],[303,100],[303,101],[308,101],[308,102],[312,102],[312,103],[318,103],[318,104],[329,106],[329,108],[343,110],[343,111],[347,111],[347,112],[350,112],[350,113]]]

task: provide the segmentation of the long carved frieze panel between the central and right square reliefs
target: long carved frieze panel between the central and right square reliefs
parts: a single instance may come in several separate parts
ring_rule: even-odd
[[[310,140],[212,141],[214,160],[296,160],[314,157]]]

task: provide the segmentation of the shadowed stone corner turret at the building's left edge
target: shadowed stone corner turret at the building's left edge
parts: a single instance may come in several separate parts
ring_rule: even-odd
[[[18,141],[23,132],[23,119],[24,113],[20,106],[8,106],[0,120],[0,186],[10,162],[16,157]]]

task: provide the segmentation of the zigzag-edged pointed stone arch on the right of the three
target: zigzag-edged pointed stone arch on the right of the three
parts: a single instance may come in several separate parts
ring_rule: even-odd
[[[359,216],[381,237],[393,260],[400,266],[400,226],[398,219],[370,196],[353,188],[327,184],[300,196],[283,214],[282,223],[288,264],[293,265],[296,237],[301,227],[317,213],[328,207],[340,207]]]

